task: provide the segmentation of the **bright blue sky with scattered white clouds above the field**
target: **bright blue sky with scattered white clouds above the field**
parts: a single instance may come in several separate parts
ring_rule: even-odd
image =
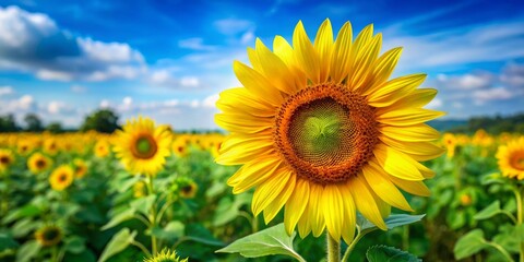
[[[522,1],[3,0],[0,115],[75,127],[97,108],[175,129],[216,129],[218,93],[238,86],[233,61],[255,37],[310,37],[373,23],[383,51],[403,46],[395,75],[425,72],[429,105],[448,119],[524,111]]]

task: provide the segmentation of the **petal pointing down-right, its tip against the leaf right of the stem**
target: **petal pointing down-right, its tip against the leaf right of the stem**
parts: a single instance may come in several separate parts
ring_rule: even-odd
[[[380,229],[386,230],[388,227],[385,226],[379,206],[371,194],[371,189],[361,175],[355,176],[354,179],[349,181],[348,187],[352,190],[353,199],[356,200],[355,204],[360,214]]]

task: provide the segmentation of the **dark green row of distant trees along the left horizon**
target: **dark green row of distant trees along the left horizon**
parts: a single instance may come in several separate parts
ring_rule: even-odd
[[[0,116],[0,132],[44,132],[63,133],[75,131],[96,130],[103,133],[112,133],[120,129],[118,124],[119,116],[111,109],[98,109],[85,116],[79,129],[64,128],[60,122],[53,121],[44,124],[40,117],[35,112],[28,112],[24,116],[24,124],[16,122],[13,114]]]

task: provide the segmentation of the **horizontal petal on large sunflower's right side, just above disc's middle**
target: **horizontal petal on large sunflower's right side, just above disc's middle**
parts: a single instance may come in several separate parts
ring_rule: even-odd
[[[385,124],[405,127],[427,122],[444,115],[445,114],[441,111],[428,110],[424,108],[409,108],[392,110],[382,115],[378,115],[377,120]]]

